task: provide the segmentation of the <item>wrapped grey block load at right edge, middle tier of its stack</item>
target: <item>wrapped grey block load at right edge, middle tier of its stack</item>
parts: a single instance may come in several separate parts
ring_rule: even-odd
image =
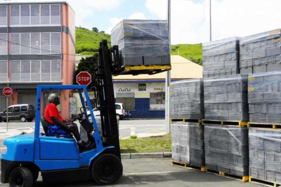
[[[281,123],[281,72],[249,74],[251,123]]]

